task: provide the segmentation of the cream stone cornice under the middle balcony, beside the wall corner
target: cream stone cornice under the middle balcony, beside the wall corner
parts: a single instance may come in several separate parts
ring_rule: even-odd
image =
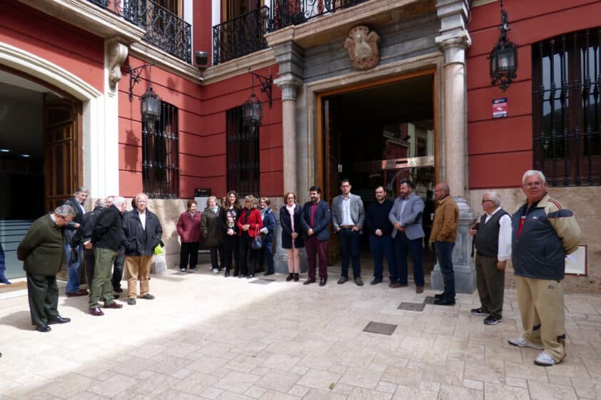
[[[216,83],[232,78],[233,76],[247,73],[248,68],[255,71],[259,68],[273,66],[275,63],[276,56],[271,48],[255,51],[254,53],[248,54],[248,56],[236,58],[207,68],[203,73],[203,85],[210,85],[211,83]]]

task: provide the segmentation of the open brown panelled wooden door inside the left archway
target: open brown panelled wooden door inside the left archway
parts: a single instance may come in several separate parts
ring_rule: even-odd
[[[71,198],[79,183],[79,106],[44,101],[44,184],[46,212]]]

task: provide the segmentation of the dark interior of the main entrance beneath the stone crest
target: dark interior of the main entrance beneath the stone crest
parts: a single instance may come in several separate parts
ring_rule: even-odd
[[[434,76],[325,96],[322,104],[326,200],[340,194],[340,180],[348,178],[351,193],[360,195],[367,208],[375,201],[376,187],[383,185],[388,198],[394,200],[401,180],[410,179],[414,193],[426,203],[423,222],[428,235],[435,185]],[[338,240],[332,237],[328,264],[339,265]],[[362,275],[369,277],[373,262],[367,232],[362,235],[360,254]],[[408,262],[409,275],[413,275],[410,257]],[[427,240],[423,263],[428,277],[435,255]],[[388,276],[386,263],[384,275]]]

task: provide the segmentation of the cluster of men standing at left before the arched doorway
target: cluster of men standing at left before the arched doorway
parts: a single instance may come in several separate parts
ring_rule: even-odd
[[[51,324],[71,321],[61,317],[57,309],[56,274],[64,255],[66,295],[89,295],[90,314],[94,316],[104,314],[101,302],[108,309],[123,307],[115,301],[123,292],[123,264],[127,304],[136,304],[136,297],[154,299],[149,293],[148,275],[163,230],[158,217],[146,208],[147,196],[138,194],[129,211],[125,198],[109,196],[96,200],[94,210],[85,212],[87,197],[88,190],[79,188],[74,198],[36,220],[17,248],[17,257],[24,261],[26,270],[31,322],[39,332],[50,332]],[[89,292],[80,287],[82,267]]]

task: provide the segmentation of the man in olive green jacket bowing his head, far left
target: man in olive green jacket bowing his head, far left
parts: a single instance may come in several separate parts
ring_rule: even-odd
[[[64,324],[71,319],[61,317],[59,287],[56,274],[64,255],[65,225],[73,220],[75,211],[70,205],[56,207],[54,212],[39,217],[19,243],[16,255],[24,261],[27,272],[27,294],[31,323],[39,332],[50,332],[49,325]]]

